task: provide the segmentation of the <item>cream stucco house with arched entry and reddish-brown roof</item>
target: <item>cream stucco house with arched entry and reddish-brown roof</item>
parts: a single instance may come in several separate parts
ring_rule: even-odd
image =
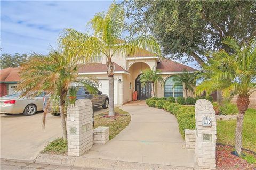
[[[163,86],[157,83],[155,86],[156,97],[185,97],[185,89],[183,85],[175,86],[173,89],[173,75],[182,74],[183,70],[194,72],[197,71],[189,66],[161,59],[153,53],[146,50],[140,50],[136,55],[127,57],[113,56],[115,62],[114,75],[114,103],[123,104],[132,100],[132,93],[138,92],[138,99],[145,100],[151,97],[151,83],[148,82],[145,86],[140,83],[140,74],[144,69],[159,69],[162,71],[164,79]],[[78,72],[81,75],[91,75],[101,82],[99,88],[104,94],[108,95],[108,76],[106,74],[106,58],[98,58],[97,63],[81,65]],[[190,92],[189,96],[193,96]]]

